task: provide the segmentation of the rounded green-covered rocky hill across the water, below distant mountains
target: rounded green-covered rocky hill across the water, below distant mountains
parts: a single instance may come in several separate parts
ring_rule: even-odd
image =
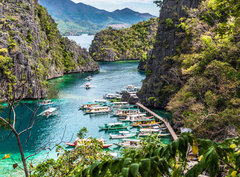
[[[89,49],[96,61],[127,59],[146,60],[146,53],[153,48],[157,33],[158,19],[151,18],[130,28],[108,28],[96,34]]]

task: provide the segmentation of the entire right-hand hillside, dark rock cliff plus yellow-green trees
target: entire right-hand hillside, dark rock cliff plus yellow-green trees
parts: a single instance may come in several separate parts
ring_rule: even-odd
[[[240,3],[201,1],[179,18],[164,16],[171,3],[181,2],[163,3],[141,101],[166,108],[176,129],[191,128],[199,137],[221,140],[239,135]],[[167,38],[167,33],[174,38]]]

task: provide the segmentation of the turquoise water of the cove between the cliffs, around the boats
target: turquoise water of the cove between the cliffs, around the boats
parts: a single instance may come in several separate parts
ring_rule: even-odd
[[[120,91],[124,86],[133,84],[141,86],[141,81],[145,78],[145,74],[137,70],[138,62],[110,62],[99,63],[101,70],[96,73],[84,73],[84,74],[69,74],[62,78],[56,78],[49,81],[48,98],[53,99],[58,109],[58,115],[49,119],[40,119],[34,127],[31,138],[28,144],[24,143],[24,150],[26,155],[35,153],[46,142],[49,142],[51,146],[58,144],[63,136],[64,129],[66,132],[63,138],[63,143],[67,141],[74,141],[77,132],[82,127],[87,127],[89,136],[100,138],[103,137],[108,142],[109,134],[105,132],[99,132],[98,126],[104,125],[104,123],[114,123],[116,118],[111,118],[110,115],[102,115],[97,117],[90,117],[84,115],[78,108],[80,105],[95,99],[102,99],[102,96],[106,93],[115,93]],[[85,78],[91,75],[93,80],[92,85],[96,88],[86,90],[81,88],[86,84]],[[20,125],[24,127],[28,123],[28,119],[32,115],[32,111],[36,106],[36,102],[20,103],[16,107],[17,115],[19,115]],[[39,112],[42,109],[39,110]],[[6,111],[0,113],[6,114]],[[164,116],[164,115],[163,115]],[[0,130],[0,134],[6,134],[6,132]],[[7,135],[7,134],[6,134]],[[28,134],[25,134],[23,140],[27,138]],[[1,141],[3,139],[1,138]],[[25,141],[23,141],[25,142]],[[165,140],[166,143],[169,139]],[[114,151],[114,147],[111,148]],[[13,138],[13,135],[0,146],[0,158],[4,154],[11,154],[10,159],[0,161],[0,176],[5,174],[14,175],[18,173],[18,170],[13,170],[12,164],[14,161],[21,164],[19,161],[20,154],[18,153],[18,147]],[[56,152],[53,150],[48,154],[48,157],[56,157]],[[33,164],[46,159],[46,151],[42,151],[40,154],[33,157]],[[19,174],[18,174],[19,175]],[[3,175],[4,176],[4,175]]]

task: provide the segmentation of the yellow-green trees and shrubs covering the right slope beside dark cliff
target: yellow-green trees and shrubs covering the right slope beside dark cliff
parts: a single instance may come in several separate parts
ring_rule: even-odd
[[[193,129],[199,137],[220,140],[229,131],[240,133],[240,6],[236,3],[202,1],[189,18],[180,20],[187,37],[178,54],[168,58],[179,63],[177,69],[187,79],[182,87],[175,86],[177,93],[167,109],[174,123]]]

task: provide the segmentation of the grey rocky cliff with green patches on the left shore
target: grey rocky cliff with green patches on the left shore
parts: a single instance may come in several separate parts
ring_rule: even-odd
[[[0,0],[0,14],[0,99],[44,98],[47,79],[99,69],[37,0]]]

